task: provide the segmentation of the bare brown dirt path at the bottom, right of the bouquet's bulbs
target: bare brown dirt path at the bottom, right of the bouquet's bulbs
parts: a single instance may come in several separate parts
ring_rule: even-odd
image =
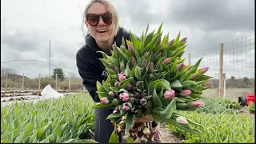
[[[162,138],[162,143],[184,143],[182,142],[182,138],[170,131],[163,123],[160,125],[160,133]]]

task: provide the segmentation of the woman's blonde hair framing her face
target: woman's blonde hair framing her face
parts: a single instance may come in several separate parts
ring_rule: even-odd
[[[119,30],[119,17],[118,17],[118,12],[115,10],[114,6],[106,1],[106,0],[91,0],[90,3],[86,6],[86,9],[84,10],[83,14],[82,14],[82,33],[84,34],[85,36],[85,33],[84,33],[84,25],[85,25],[85,21],[86,21],[86,14],[87,14],[87,11],[89,9],[89,7],[91,5],[93,5],[94,3],[96,2],[100,2],[102,3],[103,5],[106,6],[106,9],[112,14],[112,26],[113,26],[113,30],[112,30],[112,33],[111,33],[111,36],[114,37],[116,34],[118,34],[118,30]],[[90,33],[90,30],[87,31],[87,34]]]

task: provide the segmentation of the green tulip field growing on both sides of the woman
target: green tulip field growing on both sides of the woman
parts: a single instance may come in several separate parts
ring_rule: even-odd
[[[203,98],[202,101],[206,103],[204,108],[179,114],[202,125],[192,125],[192,128],[203,134],[186,133],[166,124],[181,142],[255,142],[254,114],[239,114],[238,102],[220,98]],[[94,142],[94,109],[90,108],[93,105],[88,93],[77,93],[2,106],[1,142]],[[249,112],[249,106],[245,109]]]

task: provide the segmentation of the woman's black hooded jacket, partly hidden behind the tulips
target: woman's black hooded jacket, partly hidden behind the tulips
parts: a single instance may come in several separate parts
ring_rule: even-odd
[[[122,44],[122,37],[130,40],[129,32],[119,28],[118,34],[114,37],[114,42],[118,47]],[[100,53],[96,53],[99,50],[101,49],[97,46],[95,39],[90,34],[87,34],[86,44],[76,54],[78,72],[83,80],[82,84],[86,86],[94,102],[100,102],[96,93],[96,82],[102,82],[107,78],[106,68],[98,59],[103,58],[103,56]]]

